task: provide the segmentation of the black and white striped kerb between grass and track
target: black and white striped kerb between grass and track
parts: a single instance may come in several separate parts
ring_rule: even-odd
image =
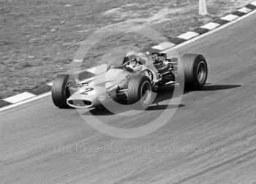
[[[255,9],[256,9],[256,1],[253,1],[252,3],[247,4],[245,7],[240,8],[229,15],[226,15],[225,17],[219,18],[217,20],[213,20],[212,22],[207,23],[204,26],[195,28],[195,30],[188,31],[187,33],[181,34],[178,37],[170,38],[170,42],[168,42],[168,43],[163,42],[159,45],[155,45],[155,46],[151,47],[150,50],[164,51],[170,47],[174,47],[183,42],[187,42],[189,39],[198,37],[201,34],[205,34],[208,31],[214,30],[215,28],[225,25],[226,23],[230,23],[233,20],[236,20],[236,19],[248,14],[249,12],[252,12]],[[89,78],[88,81],[90,81],[90,80],[93,80],[93,76],[95,74],[102,73],[105,71],[105,69],[106,69],[106,65],[103,64],[101,66],[93,67],[91,69],[86,69],[86,71],[82,71],[82,72],[78,73],[78,75],[76,77],[78,78],[78,80],[83,80],[85,78]],[[52,83],[48,83],[46,85],[40,86],[37,89],[19,93],[15,96],[10,96],[6,99],[0,99],[0,108],[8,106],[10,104],[16,104],[20,101],[34,98],[35,96],[42,95],[43,93],[48,93],[51,90],[51,85],[52,85]]]

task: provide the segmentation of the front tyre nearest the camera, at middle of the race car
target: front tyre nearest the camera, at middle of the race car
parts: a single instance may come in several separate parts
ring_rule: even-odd
[[[127,99],[132,109],[146,110],[152,101],[151,80],[146,76],[132,77],[128,84]]]

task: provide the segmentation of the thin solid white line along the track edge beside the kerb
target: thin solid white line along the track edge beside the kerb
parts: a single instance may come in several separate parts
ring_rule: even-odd
[[[256,1],[255,1],[254,3],[256,4]],[[200,35],[200,36],[198,36],[198,37],[189,39],[188,41],[183,42],[183,43],[181,43],[181,44],[179,44],[179,45],[176,45],[176,46],[173,47],[173,48],[176,48],[176,49],[177,49],[177,48],[179,48],[179,47],[183,47],[184,45],[188,45],[188,44],[190,44],[191,42],[195,42],[195,40],[201,39],[201,38],[203,38],[203,37],[206,37],[206,36],[208,36],[209,34],[213,34],[213,33],[217,32],[217,31],[221,30],[222,28],[226,28],[227,26],[230,26],[230,25],[232,25],[233,23],[238,22],[239,20],[242,20],[242,19],[244,19],[244,18],[249,17],[250,15],[255,14],[255,12],[256,12],[256,9],[253,10],[252,12],[249,12],[248,14],[246,14],[246,15],[240,17],[240,18],[237,18],[236,20],[233,20],[233,21],[230,22],[230,23],[226,23],[226,24],[224,24],[224,25],[222,25],[222,26],[219,26],[218,28],[215,28],[214,30],[208,31],[206,34],[202,34],[202,35]],[[173,48],[171,48],[171,49],[173,49]],[[30,102],[30,101],[34,101],[34,100],[37,100],[37,99],[42,99],[42,98],[44,98],[45,96],[49,96],[50,94],[51,94],[50,92],[44,93],[44,94],[39,95],[39,96],[36,96],[36,97],[34,97],[34,98],[27,99],[27,100],[25,100],[25,101],[20,101],[20,102],[18,102],[17,104],[11,104],[11,105],[8,105],[7,107],[2,107],[2,108],[0,109],[0,112],[3,111],[3,110],[11,109],[12,107],[17,107],[17,106],[19,106],[19,105],[21,105],[21,104],[26,104],[26,103],[28,103],[28,102]]]

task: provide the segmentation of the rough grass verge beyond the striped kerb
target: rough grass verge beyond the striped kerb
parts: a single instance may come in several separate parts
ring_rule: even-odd
[[[208,2],[209,15],[198,15],[198,0],[8,0],[0,2],[0,99],[53,80],[67,72],[78,42],[113,23],[135,20],[165,37],[175,37],[249,3]],[[120,43],[147,47],[147,39],[119,35],[87,55],[84,68]]]

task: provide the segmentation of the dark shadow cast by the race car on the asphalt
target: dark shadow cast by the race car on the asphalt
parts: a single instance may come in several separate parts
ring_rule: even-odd
[[[198,91],[220,91],[220,90],[228,90],[231,88],[239,88],[241,85],[210,85],[206,84],[202,89]],[[157,110],[166,110],[166,109],[173,109],[177,107],[184,107],[184,104],[159,104],[162,101],[170,100],[173,96],[174,85],[166,85],[157,91],[157,97],[154,99],[153,103],[151,104],[146,111],[157,111]],[[193,91],[184,91],[184,94],[190,93]],[[120,110],[120,112],[124,112]],[[89,110],[89,112],[83,113],[83,115],[114,115],[113,112],[110,112],[105,107],[97,107],[94,109]]]

